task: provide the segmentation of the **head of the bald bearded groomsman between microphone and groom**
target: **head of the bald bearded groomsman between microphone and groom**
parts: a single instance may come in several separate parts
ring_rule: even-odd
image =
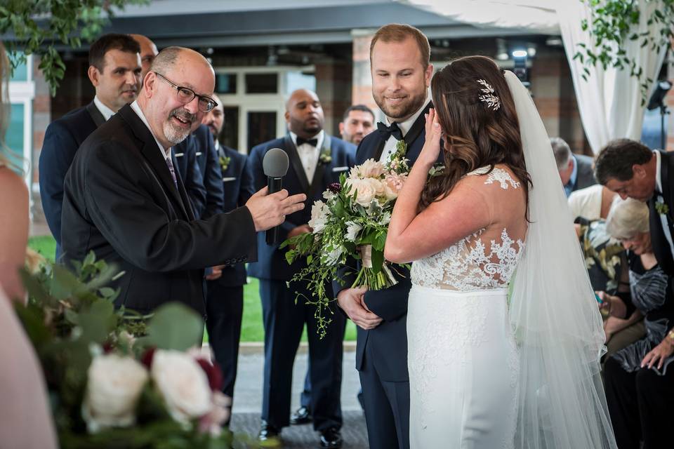
[[[315,92],[298,89],[286,101],[286,123],[300,138],[312,138],[323,129],[323,107]]]

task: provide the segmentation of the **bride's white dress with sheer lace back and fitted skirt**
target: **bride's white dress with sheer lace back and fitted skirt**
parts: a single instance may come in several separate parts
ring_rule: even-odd
[[[469,173],[483,181],[473,185],[486,198],[503,202],[522,194],[507,170],[488,170]],[[504,207],[494,206],[494,213]],[[411,448],[513,448],[519,362],[507,288],[524,250],[524,215],[513,228],[495,220],[412,264]]]

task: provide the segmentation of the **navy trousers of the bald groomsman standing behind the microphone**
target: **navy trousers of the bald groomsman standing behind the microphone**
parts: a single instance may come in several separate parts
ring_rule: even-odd
[[[306,323],[311,377],[310,408],[314,429],[341,428],[341,385],[343,339],[346,320],[343,314],[331,316],[327,335],[316,333],[315,306],[305,304],[296,291],[311,294],[302,283],[260,279],[265,326],[265,373],[262,419],[278,429],[289,425],[293,363]]]

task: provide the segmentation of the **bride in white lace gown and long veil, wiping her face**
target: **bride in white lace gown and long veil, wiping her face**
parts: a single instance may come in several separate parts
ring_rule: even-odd
[[[385,246],[388,260],[414,261],[410,447],[616,448],[602,320],[527,89],[480,56],[431,88]],[[441,142],[446,168],[427,182]]]

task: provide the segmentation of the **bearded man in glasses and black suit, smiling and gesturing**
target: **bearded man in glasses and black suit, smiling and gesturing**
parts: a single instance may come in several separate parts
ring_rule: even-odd
[[[262,190],[231,213],[194,220],[171,147],[215,107],[214,86],[202,55],[164,49],[138,100],[82,143],[65,177],[66,265],[93,251],[119,267],[117,307],[148,313],[179,301],[205,316],[204,267],[256,260],[256,232],[304,208],[304,194]]]

